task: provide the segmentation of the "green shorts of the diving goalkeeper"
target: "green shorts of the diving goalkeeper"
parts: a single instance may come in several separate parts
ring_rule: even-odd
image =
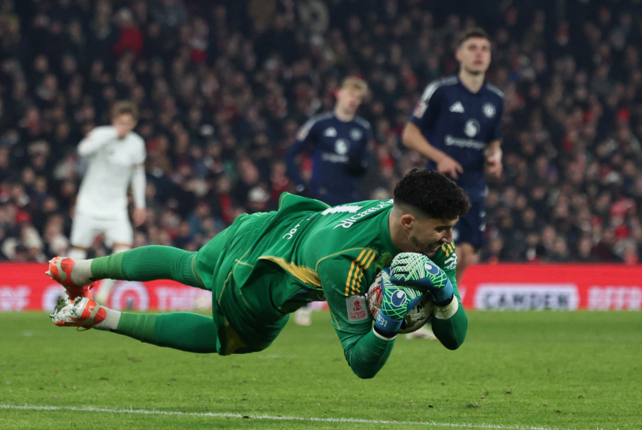
[[[234,279],[234,271],[252,269],[241,260],[256,247],[257,234],[269,216],[272,214],[239,216],[196,255],[196,271],[212,291],[216,351],[221,356],[264,350],[288,322],[288,314],[275,309],[269,297],[272,284],[281,282],[279,276],[266,273],[245,285]]]

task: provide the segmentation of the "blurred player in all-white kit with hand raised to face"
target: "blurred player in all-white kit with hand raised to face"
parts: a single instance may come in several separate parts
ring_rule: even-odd
[[[87,258],[87,249],[99,234],[112,252],[132,248],[134,232],[127,212],[127,189],[132,185],[134,225],[145,220],[145,143],[133,132],[138,110],[133,103],[119,101],[111,110],[112,124],[91,130],[78,144],[78,155],[89,157],[71,225],[72,259]],[[96,300],[107,302],[116,281],[100,284]]]

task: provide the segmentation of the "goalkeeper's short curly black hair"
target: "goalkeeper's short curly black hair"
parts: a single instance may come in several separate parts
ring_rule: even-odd
[[[455,219],[471,209],[462,187],[429,169],[412,169],[401,178],[395,186],[394,202],[437,219]]]

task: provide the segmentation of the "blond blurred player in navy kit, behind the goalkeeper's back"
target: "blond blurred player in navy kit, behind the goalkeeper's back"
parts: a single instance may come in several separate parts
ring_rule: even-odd
[[[297,193],[316,198],[331,206],[362,200],[360,178],[368,169],[370,123],[356,116],[368,85],[354,76],[345,78],[336,94],[334,110],[309,119],[299,130],[297,140],[285,156],[287,175]],[[309,184],[303,180],[297,156],[308,153],[312,159]],[[302,307],[295,323],[310,325],[311,309]]]

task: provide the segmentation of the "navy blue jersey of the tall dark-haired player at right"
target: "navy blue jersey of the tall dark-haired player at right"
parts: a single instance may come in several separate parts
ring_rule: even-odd
[[[484,150],[501,139],[504,94],[489,83],[470,92],[458,76],[429,83],[410,121],[426,140],[462,165],[457,184],[467,193],[481,192],[484,179]],[[435,169],[434,162],[428,163]]]

